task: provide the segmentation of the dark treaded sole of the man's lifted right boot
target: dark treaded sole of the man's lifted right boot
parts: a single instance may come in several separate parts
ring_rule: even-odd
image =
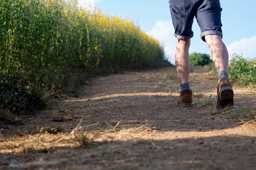
[[[220,89],[220,106],[219,108],[225,108],[234,105],[234,91],[231,86],[223,86]]]

